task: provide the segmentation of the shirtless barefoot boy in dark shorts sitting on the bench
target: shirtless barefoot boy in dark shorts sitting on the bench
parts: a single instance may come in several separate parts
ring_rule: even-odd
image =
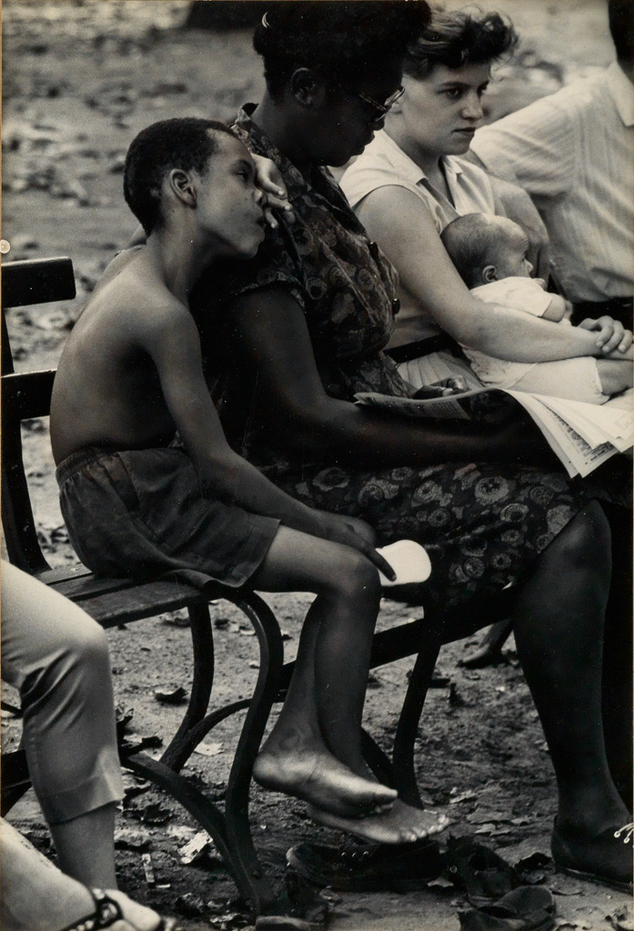
[[[251,156],[222,124],[156,123],[129,148],[124,191],[147,243],[106,269],[64,348],[51,401],[77,553],[96,573],[188,568],[230,586],[315,592],[256,780],[366,840],[442,830],[377,783],[361,756],[377,569],[394,577],[370,527],[302,505],[238,456],[204,380],[189,295],[203,268],[252,257],[263,240]],[[182,445],[171,444],[177,431]]]

